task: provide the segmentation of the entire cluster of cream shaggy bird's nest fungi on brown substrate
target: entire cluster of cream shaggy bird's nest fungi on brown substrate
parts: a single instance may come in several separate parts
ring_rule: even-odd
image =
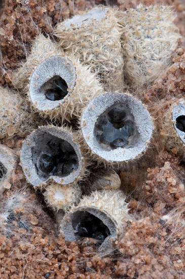
[[[20,154],[24,175],[54,211],[63,212],[60,232],[69,241],[92,237],[101,249],[110,248],[130,218],[117,172],[149,150],[153,121],[133,89],[154,81],[177,46],[174,17],[164,10],[100,6],[65,20],[56,27],[59,43],[40,34],[13,74],[20,95],[2,89],[1,138],[29,133]],[[148,41],[154,45],[147,52]],[[160,42],[172,42],[170,52],[158,49]],[[103,84],[123,84],[124,74],[130,93],[103,90]],[[165,121],[182,148],[183,110],[181,101]],[[8,188],[9,155],[2,158]]]

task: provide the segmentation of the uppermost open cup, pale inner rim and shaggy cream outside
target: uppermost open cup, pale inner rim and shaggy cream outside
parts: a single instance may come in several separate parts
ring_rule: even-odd
[[[90,68],[75,58],[54,55],[44,59],[31,75],[29,98],[42,116],[61,121],[78,117],[102,88]]]

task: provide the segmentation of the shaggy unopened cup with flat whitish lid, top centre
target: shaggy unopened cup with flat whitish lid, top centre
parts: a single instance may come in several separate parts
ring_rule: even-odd
[[[90,65],[106,91],[123,82],[121,32],[115,10],[96,7],[59,23],[56,28],[60,46]]]

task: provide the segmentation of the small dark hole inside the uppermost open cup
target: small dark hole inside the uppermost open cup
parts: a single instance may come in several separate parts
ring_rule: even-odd
[[[67,95],[67,89],[65,80],[60,76],[54,76],[41,86],[40,92],[44,93],[48,100],[56,101],[62,100]]]

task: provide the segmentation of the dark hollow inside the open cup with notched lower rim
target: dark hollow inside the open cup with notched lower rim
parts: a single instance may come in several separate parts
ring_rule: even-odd
[[[49,133],[41,133],[31,148],[32,162],[40,179],[65,177],[79,165],[75,149],[65,140]]]

